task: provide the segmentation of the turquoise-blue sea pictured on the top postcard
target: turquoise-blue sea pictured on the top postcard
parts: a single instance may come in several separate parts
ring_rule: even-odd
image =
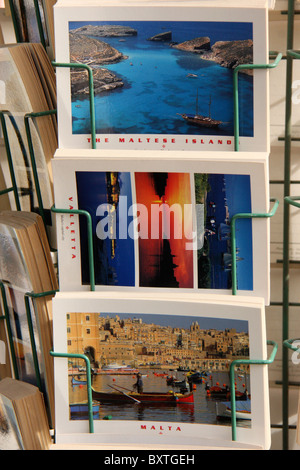
[[[106,22],[107,24],[108,22]],[[110,22],[116,24],[116,22]],[[122,78],[124,86],[95,97],[96,131],[104,134],[233,135],[233,73],[199,54],[179,51],[168,42],[148,41],[172,31],[172,41],[181,43],[208,36],[216,41],[252,39],[252,23],[233,22],[117,22],[137,30],[137,36],[99,38],[127,58],[105,67]],[[70,23],[70,30],[97,24]],[[104,24],[102,22],[101,24]],[[96,38],[97,39],[97,38]],[[189,76],[192,74],[193,76]],[[239,74],[240,135],[253,136],[253,80]],[[198,112],[221,120],[218,129],[188,125],[178,113]],[[90,132],[89,99],[72,101],[73,133]]]

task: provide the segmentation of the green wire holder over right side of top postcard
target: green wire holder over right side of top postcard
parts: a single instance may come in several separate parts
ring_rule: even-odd
[[[240,137],[240,125],[239,125],[239,87],[238,87],[238,73],[241,70],[253,70],[253,69],[274,69],[277,67],[282,59],[282,54],[278,53],[276,59],[272,64],[241,64],[235,67],[233,70],[233,105],[234,105],[234,149],[239,151],[239,137]]]

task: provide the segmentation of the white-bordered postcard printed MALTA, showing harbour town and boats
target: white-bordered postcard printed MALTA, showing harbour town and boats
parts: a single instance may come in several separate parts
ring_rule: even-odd
[[[252,369],[247,361],[266,354],[263,302],[226,299],[60,293],[53,304],[54,344],[66,359],[55,359],[58,439],[89,424],[82,354],[91,367],[95,430],[83,442],[101,442],[102,433],[123,443],[137,436],[161,444],[230,440],[231,393],[238,439],[257,439],[258,423],[268,419],[266,368]],[[232,390],[234,360],[246,363],[235,367]]]

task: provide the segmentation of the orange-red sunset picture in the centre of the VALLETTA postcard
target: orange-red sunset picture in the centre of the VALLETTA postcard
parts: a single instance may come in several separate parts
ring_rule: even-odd
[[[135,185],[137,203],[147,209],[144,219],[143,214],[139,219],[148,227],[147,238],[139,238],[140,286],[192,288],[193,251],[186,249],[192,237],[192,214],[184,210],[192,204],[190,174],[136,173]],[[161,218],[153,220],[155,205],[162,209]]]

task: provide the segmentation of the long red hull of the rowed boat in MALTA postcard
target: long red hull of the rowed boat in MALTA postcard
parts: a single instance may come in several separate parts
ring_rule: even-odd
[[[93,400],[99,401],[100,403],[137,403],[142,405],[179,405],[181,403],[193,404],[194,395],[190,393],[159,393],[159,392],[145,392],[137,393],[127,390],[126,392],[121,391],[115,387],[114,392],[99,392],[92,387],[92,398]]]

